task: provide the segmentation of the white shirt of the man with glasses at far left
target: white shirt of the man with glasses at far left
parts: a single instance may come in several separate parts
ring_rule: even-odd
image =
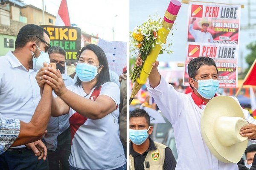
[[[37,72],[38,69],[27,71],[11,51],[0,57],[0,113],[3,116],[30,122],[41,99],[35,79]]]

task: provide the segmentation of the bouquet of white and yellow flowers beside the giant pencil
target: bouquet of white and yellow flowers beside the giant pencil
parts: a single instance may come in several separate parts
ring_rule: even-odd
[[[138,51],[133,54],[134,56],[137,57],[137,55],[140,54],[140,57],[144,62],[148,57],[151,48],[154,48],[154,44],[160,44],[162,46],[159,54],[163,54],[163,51],[166,51],[168,54],[172,53],[172,51],[168,50],[170,47],[169,42],[157,42],[157,32],[160,28],[162,28],[162,19],[158,16],[155,16],[155,19],[149,16],[145,23],[135,27],[134,31],[130,32],[130,37],[132,38],[130,40],[130,49],[131,51]],[[138,67],[136,65],[134,66],[130,74],[132,82],[135,82],[139,77],[142,68],[143,65]]]

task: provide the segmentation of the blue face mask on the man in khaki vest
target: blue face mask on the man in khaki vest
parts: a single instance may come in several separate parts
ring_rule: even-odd
[[[149,130],[150,126],[148,127]],[[133,129],[129,129],[130,130],[130,139],[131,142],[136,144],[136,145],[141,145],[143,144],[146,139],[148,138],[148,130],[144,129],[144,130],[133,130]]]

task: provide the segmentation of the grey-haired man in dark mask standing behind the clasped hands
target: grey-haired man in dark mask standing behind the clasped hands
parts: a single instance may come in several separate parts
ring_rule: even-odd
[[[48,54],[51,63],[55,63],[57,70],[61,72],[65,85],[72,85],[73,79],[64,74],[66,51],[59,46],[52,46],[48,49]],[[71,153],[69,115],[51,116],[44,139],[47,142],[50,170],[69,170],[68,158]],[[62,167],[59,167],[59,161]]]

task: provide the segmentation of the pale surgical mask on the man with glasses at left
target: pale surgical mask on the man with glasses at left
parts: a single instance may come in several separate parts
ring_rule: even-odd
[[[40,51],[40,55],[39,57],[35,57],[35,54],[33,51],[31,51],[32,53],[32,61],[33,61],[33,68],[37,68],[38,70],[40,70],[42,67],[44,67],[44,62],[46,62],[48,65],[50,63],[50,58],[49,58],[49,54],[41,51],[41,49],[38,47],[38,45],[36,45],[38,50]]]

